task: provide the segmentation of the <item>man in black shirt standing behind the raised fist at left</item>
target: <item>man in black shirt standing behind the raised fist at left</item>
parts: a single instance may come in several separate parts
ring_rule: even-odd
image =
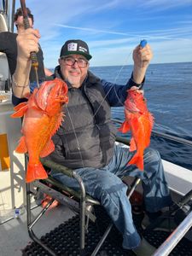
[[[28,20],[29,20],[29,26],[33,26],[34,18],[30,11],[30,9],[26,8]],[[15,12],[15,26],[17,28],[17,32],[22,32],[25,30],[25,27],[23,25],[23,15],[22,10],[19,8]],[[7,55],[8,63],[9,63],[9,70],[11,75],[15,73],[15,67],[16,67],[16,59],[17,59],[17,44],[16,44],[16,37],[17,33],[12,32],[1,32],[0,33],[0,51],[5,53]],[[49,69],[44,68],[44,56],[43,51],[40,47],[40,44],[38,44],[39,50],[37,54],[38,58],[38,79],[44,80],[45,75],[49,76],[52,73],[49,71]],[[36,81],[36,74],[32,68],[30,73],[30,81],[34,82]]]

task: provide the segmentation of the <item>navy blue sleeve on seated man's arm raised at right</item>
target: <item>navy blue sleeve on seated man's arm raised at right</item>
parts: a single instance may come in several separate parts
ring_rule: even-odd
[[[131,89],[132,86],[137,86],[138,89],[143,88],[144,80],[142,84],[136,84],[132,78],[128,80],[126,84],[113,84],[110,83],[104,79],[102,79],[102,86],[105,91],[107,100],[111,107],[122,107],[124,105],[126,96],[127,96],[127,90]]]

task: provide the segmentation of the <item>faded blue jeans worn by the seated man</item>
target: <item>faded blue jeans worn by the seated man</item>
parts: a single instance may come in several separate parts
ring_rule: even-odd
[[[148,212],[157,212],[172,202],[159,152],[152,148],[145,149],[144,172],[139,171],[136,166],[127,166],[133,154],[129,148],[115,146],[113,159],[108,166],[75,170],[84,181],[86,193],[101,202],[113,224],[122,233],[123,247],[126,249],[138,247],[141,238],[133,224],[131,204],[126,196],[127,186],[121,178],[131,176],[142,179],[143,198]],[[79,189],[79,183],[75,179],[54,171],[51,175],[68,187]]]

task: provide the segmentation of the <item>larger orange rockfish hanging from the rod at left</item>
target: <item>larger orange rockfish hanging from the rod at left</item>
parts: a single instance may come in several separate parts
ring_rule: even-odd
[[[16,106],[15,113],[11,115],[13,118],[24,116],[23,136],[15,152],[28,152],[26,183],[48,177],[39,158],[55,150],[51,137],[61,125],[62,105],[68,102],[67,91],[67,84],[61,79],[46,81],[39,89],[33,90],[28,102]]]

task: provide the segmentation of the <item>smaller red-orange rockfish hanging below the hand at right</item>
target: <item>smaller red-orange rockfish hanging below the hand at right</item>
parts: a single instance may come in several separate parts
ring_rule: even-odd
[[[123,133],[131,131],[130,151],[137,150],[137,152],[128,165],[136,165],[143,171],[143,151],[150,143],[154,117],[148,112],[147,101],[141,91],[127,90],[127,92],[125,122],[120,126],[119,131]]]

